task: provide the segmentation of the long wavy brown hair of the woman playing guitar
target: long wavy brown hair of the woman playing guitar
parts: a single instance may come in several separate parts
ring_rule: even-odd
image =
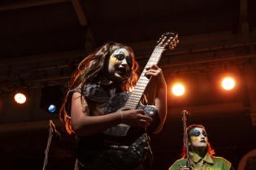
[[[129,78],[124,83],[120,83],[119,87],[121,87],[124,91],[130,91],[131,88],[134,87],[137,83],[139,66],[135,61],[132,48],[116,42],[108,42],[105,45],[102,45],[100,48],[89,54],[82,62],[79,63],[77,70],[74,72],[74,74],[72,74],[72,79],[68,85],[68,91],[78,86],[81,86],[81,89],[84,89],[86,83],[90,83],[99,79],[102,74],[104,74],[104,70],[106,70],[106,65],[108,64],[108,60],[111,54],[116,49],[120,48],[128,50],[128,53],[130,54],[129,57],[131,57],[132,60],[132,66],[129,73]],[[67,133],[73,134],[74,131],[72,130],[71,125],[71,115],[70,113],[67,113],[66,110],[67,100],[68,92],[65,96],[62,107],[60,108],[59,119],[65,124]]]

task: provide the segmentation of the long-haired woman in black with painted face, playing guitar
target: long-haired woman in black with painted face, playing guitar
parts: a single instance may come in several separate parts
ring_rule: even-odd
[[[154,104],[158,121],[145,115],[141,108],[106,113],[110,101],[123,100],[112,101],[115,96],[132,91],[138,69],[132,49],[115,42],[102,45],[78,65],[59,112],[68,134],[76,134],[76,170],[150,169],[149,136],[162,130],[167,114],[167,85],[162,70],[156,65],[146,67],[145,76],[150,83],[141,100],[143,104]],[[107,134],[117,125],[120,130],[115,129],[116,132],[128,125],[128,130],[141,131],[143,135],[129,145],[129,138],[122,141],[122,135]],[[139,161],[145,151],[145,158]]]

